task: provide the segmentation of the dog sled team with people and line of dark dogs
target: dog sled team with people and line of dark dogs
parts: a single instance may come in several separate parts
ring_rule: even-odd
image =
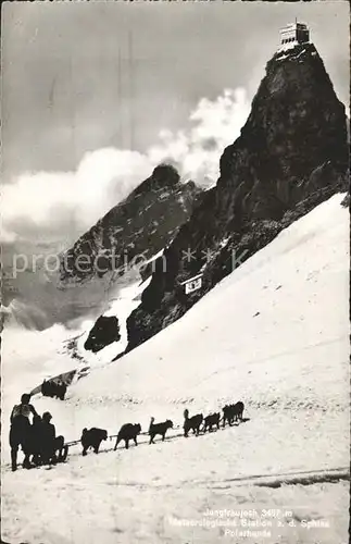
[[[189,417],[189,410],[184,411],[184,436],[188,437],[189,432],[198,436],[200,432],[212,432],[220,429],[221,422],[224,428],[226,423],[231,425],[236,421],[242,421],[243,403],[239,401],[233,405],[226,405],[221,412],[210,413],[205,418],[202,413],[197,413]],[[30,424],[29,418],[33,417]],[[55,435],[55,428],[50,423],[52,417],[46,411],[41,417],[37,413],[34,406],[30,404],[30,395],[24,394],[21,397],[21,404],[14,406],[11,413],[10,429],[10,447],[11,447],[11,465],[12,471],[17,469],[17,453],[20,446],[24,453],[23,468],[33,468],[40,465],[54,465],[66,459],[68,454],[68,445],[64,443],[62,435]],[[160,423],[154,422],[151,418],[148,434],[149,444],[154,444],[154,438],[161,436],[165,440],[168,429],[173,429],[173,421],[167,419]],[[114,450],[123,441],[125,448],[128,449],[129,442],[133,441],[137,446],[137,437],[141,433],[140,423],[125,423],[120,429],[116,437]],[[104,429],[84,429],[82,432],[80,444],[83,446],[83,455],[86,456],[89,448],[92,448],[96,454],[102,441],[108,440],[108,432]],[[78,442],[78,441],[77,441]]]

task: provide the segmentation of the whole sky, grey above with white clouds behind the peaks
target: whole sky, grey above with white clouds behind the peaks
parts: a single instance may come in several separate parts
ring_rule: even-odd
[[[213,137],[217,152],[238,136],[278,29],[296,16],[347,103],[347,2],[4,3],[9,239],[70,242],[167,156],[204,176],[202,144]]]

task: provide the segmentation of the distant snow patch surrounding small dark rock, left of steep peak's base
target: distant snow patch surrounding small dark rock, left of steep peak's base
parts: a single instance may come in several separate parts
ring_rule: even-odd
[[[111,361],[127,346],[126,320],[130,311],[140,304],[140,296],[150,282],[142,282],[140,273],[129,271],[110,294],[103,316],[116,316],[121,338],[104,349],[93,354],[84,348],[95,320],[78,320],[76,327],[66,329],[55,324],[43,331],[21,326],[21,321],[9,321],[3,331],[1,378],[3,380],[2,408],[9,411],[13,399],[23,391],[32,392],[40,386],[42,380],[76,371],[74,381]],[[18,342],[21,338],[21,342]]]

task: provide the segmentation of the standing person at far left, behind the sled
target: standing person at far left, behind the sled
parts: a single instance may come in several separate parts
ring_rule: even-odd
[[[38,416],[36,409],[32,404],[29,404],[30,395],[24,394],[21,397],[21,404],[15,405],[12,409],[10,417],[10,447],[11,447],[11,467],[14,472],[17,469],[17,453],[18,447],[25,455],[23,461],[23,468],[30,468],[29,453],[28,453],[28,440],[30,435],[30,421],[29,417]]]

